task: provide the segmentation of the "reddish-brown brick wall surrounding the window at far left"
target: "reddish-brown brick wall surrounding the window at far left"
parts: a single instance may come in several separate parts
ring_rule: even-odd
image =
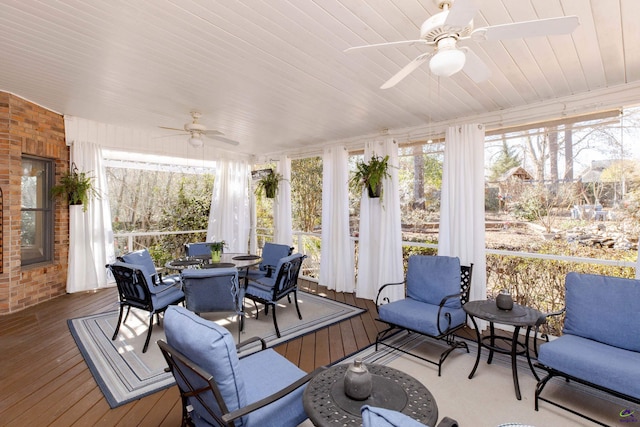
[[[62,115],[0,92],[0,314],[11,313],[65,293],[69,253],[69,208],[55,203],[53,262],[20,266],[20,182],[22,155],[55,160],[56,182],[69,169]]]

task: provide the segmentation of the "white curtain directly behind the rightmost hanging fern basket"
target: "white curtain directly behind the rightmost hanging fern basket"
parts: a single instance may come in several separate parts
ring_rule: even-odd
[[[365,144],[364,161],[372,155],[389,156],[391,178],[382,183],[382,197],[369,198],[366,190],[360,202],[358,244],[358,283],[360,298],[375,299],[385,283],[404,280],[402,233],[400,229],[400,191],[398,185],[398,145],[392,139]],[[384,297],[395,301],[404,297],[402,286],[391,286]]]

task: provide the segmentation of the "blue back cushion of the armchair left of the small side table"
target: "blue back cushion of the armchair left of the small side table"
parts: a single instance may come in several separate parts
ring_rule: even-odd
[[[438,305],[442,298],[460,293],[460,259],[448,256],[413,255],[407,267],[407,296]],[[446,307],[461,307],[460,298],[447,300]]]

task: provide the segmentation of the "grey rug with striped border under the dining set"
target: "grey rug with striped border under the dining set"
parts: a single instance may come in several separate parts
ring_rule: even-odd
[[[256,318],[255,309],[249,305],[244,332],[240,339],[258,336],[272,347],[365,311],[328,298],[298,292],[298,304],[302,313],[302,320],[299,320],[295,305],[287,303],[286,299],[283,301],[277,309],[281,338],[275,334],[271,313],[265,316],[262,310]],[[227,327],[238,341],[236,316],[216,317],[209,313],[203,317]],[[154,325],[149,349],[142,353],[147,334],[148,313],[132,309],[127,323],[120,328],[116,340],[112,341],[117,320],[117,311],[68,320],[71,334],[112,408],[174,384],[173,376],[164,371],[167,364],[155,344],[157,340],[164,339],[162,324]]]

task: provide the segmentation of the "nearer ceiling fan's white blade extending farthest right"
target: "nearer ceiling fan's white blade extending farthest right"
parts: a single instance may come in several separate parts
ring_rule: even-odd
[[[470,37],[476,41],[483,41],[552,36],[570,34],[578,28],[578,25],[580,25],[580,21],[577,16],[561,16],[478,28],[471,33]]]

